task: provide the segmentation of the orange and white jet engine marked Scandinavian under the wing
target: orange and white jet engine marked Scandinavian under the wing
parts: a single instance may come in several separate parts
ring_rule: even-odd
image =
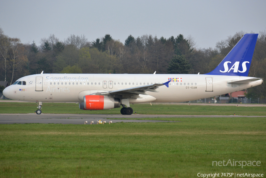
[[[82,110],[104,110],[120,108],[121,100],[102,95],[86,95],[84,102],[79,103]]]

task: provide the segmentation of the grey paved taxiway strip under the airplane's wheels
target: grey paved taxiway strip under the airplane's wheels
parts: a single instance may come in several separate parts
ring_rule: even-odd
[[[121,114],[0,114],[0,124],[84,124],[85,121],[90,124],[94,121],[102,120],[109,123],[116,122],[176,122],[176,121],[158,121],[158,120],[142,120],[142,118],[193,118],[193,117],[265,117],[265,116],[202,116],[202,115],[121,115]]]

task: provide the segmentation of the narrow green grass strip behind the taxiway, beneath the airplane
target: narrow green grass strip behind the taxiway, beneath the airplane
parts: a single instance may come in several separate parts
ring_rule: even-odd
[[[155,115],[240,115],[266,116],[265,107],[236,107],[236,106],[204,106],[204,105],[130,105],[137,114]],[[111,110],[81,110],[75,103],[43,103],[42,113],[72,113],[72,114],[120,114],[121,108]],[[0,102],[0,113],[34,113],[36,103]]]

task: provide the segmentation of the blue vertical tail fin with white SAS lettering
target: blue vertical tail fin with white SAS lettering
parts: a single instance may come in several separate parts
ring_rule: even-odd
[[[245,34],[210,75],[248,76],[258,34]]]

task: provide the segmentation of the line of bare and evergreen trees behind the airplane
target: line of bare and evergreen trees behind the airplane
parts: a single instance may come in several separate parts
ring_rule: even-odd
[[[95,41],[70,35],[60,41],[51,34],[40,46],[22,44],[0,28],[0,80],[14,83],[18,78],[44,73],[176,73],[212,71],[245,33],[218,41],[215,48],[198,48],[192,36],[169,38],[129,35],[122,43],[110,34]],[[266,31],[259,32],[249,76],[266,78]],[[266,86],[249,89],[248,97],[265,99]]]

